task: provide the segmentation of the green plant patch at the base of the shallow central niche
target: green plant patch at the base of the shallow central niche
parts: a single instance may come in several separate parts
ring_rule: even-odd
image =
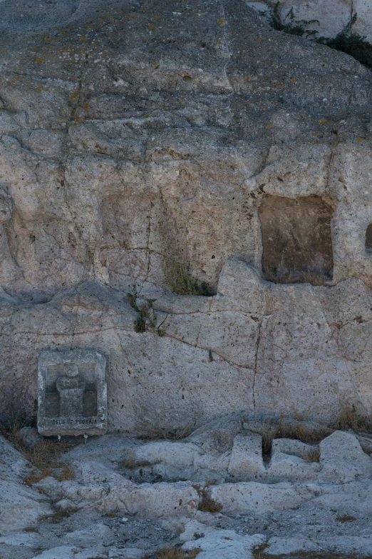
[[[190,269],[184,264],[174,260],[165,259],[163,273],[167,288],[177,295],[212,296],[210,286],[203,281],[198,282],[192,278]]]

